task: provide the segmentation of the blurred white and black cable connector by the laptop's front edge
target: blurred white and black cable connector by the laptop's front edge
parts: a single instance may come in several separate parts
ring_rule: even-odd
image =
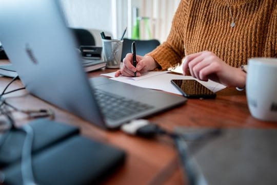
[[[130,123],[121,126],[121,130],[130,135],[141,137],[154,137],[160,134],[167,134],[159,125],[149,123],[148,120],[132,120]]]

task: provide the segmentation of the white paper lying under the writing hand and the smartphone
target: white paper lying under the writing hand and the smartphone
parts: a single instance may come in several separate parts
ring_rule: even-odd
[[[115,72],[106,73],[106,74],[102,74],[102,75],[108,76],[108,77],[113,77],[113,78],[110,78],[111,80],[120,81],[120,82],[128,83],[128,84],[139,86],[139,87],[144,87],[144,88],[163,90],[163,91],[167,91],[169,93],[174,93],[174,94],[178,94],[178,95],[181,95],[181,93],[171,84],[170,80],[172,80],[172,79],[179,79],[179,80],[194,79],[194,80],[197,80],[191,76],[174,75],[174,74],[170,74],[168,72],[169,71],[150,71],[150,72],[146,73],[145,75],[143,75],[142,77],[132,77],[132,78],[124,77],[124,76],[115,78],[114,77]],[[209,80],[208,82],[204,82],[204,81],[200,81],[200,80],[197,80],[197,81],[200,82],[205,87],[207,87],[208,89],[212,90],[214,93],[216,91],[222,90],[226,87],[220,83],[216,83],[211,80]]]

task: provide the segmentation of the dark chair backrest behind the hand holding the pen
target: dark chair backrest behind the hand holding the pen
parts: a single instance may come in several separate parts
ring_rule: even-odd
[[[160,45],[158,40],[132,40],[132,39],[123,39],[123,47],[122,47],[122,55],[121,61],[125,58],[127,53],[131,52],[132,42],[135,41],[136,45],[136,54],[144,56],[145,54],[149,53],[157,46]]]

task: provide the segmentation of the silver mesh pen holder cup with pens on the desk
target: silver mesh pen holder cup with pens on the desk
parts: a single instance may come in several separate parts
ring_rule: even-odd
[[[107,68],[120,68],[123,40],[102,39],[102,59]]]

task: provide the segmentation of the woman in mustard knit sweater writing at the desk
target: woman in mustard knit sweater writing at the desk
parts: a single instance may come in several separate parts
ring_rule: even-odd
[[[129,53],[115,77],[166,70],[182,63],[184,75],[244,87],[240,66],[251,57],[277,57],[276,0],[181,0],[167,41],[138,56]]]

